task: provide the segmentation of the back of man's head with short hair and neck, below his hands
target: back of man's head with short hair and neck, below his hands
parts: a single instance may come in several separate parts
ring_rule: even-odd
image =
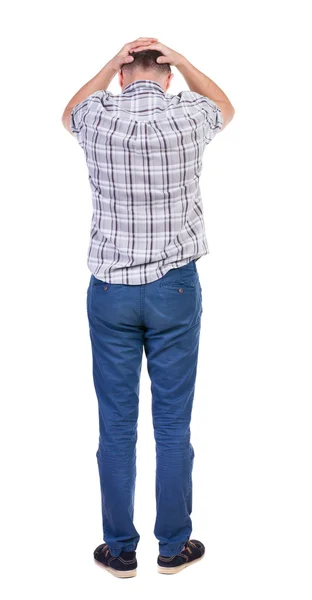
[[[118,80],[121,89],[136,81],[136,79],[152,79],[161,85],[164,92],[169,88],[173,73],[169,63],[158,64],[156,58],[163,56],[158,50],[141,50],[130,52],[134,60],[124,63],[118,72]]]

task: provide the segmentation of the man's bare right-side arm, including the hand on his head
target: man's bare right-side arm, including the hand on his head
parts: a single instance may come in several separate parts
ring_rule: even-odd
[[[207,75],[196,69],[182,54],[175,52],[175,50],[168,48],[168,46],[160,42],[153,42],[149,46],[146,46],[146,49],[159,50],[163,56],[159,56],[156,59],[158,63],[169,63],[175,66],[181,75],[183,75],[192,92],[197,92],[201,96],[210,98],[220,108],[223,117],[222,129],[224,129],[233,119],[235,110],[221,88],[212,79],[209,79]],[[137,52],[140,50],[143,50],[143,46],[136,48]]]

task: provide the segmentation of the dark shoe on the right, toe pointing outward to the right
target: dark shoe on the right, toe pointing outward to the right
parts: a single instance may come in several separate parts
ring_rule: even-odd
[[[186,567],[199,562],[205,554],[205,546],[198,540],[187,540],[180,554],[175,556],[161,556],[157,559],[158,573],[173,575],[183,571]]]

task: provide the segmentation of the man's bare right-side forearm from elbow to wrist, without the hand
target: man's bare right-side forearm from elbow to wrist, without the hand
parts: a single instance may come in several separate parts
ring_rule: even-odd
[[[220,108],[223,117],[223,126],[226,127],[233,119],[235,109],[225,93],[207,75],[196,69],[184,56],[180,55],[176,68],[183,75],[187,85],[192,92],[210,98]]]

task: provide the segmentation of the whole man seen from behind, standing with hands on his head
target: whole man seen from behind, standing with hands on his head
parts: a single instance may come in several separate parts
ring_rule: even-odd
[[[167,93],[175,66],[189,90]],[[107,90],[118,73],[121,94]],[[194,396],[209,252],[199,177],[205,146],[233,118],[227,96],[156,38],[126,44],[72,98],[62,122],[83,148],[92,189],[87,313],[99,407],[103,540],[97,563],[136,575],[133,523],[143,348],[156,441],[154,533],[160,573],[204,556],[191,540]]]

